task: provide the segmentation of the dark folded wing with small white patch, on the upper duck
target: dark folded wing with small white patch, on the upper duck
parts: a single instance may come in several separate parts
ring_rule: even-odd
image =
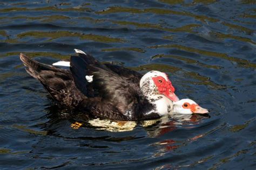
[[[91,62],[90,57],[71,56],[70,70],[76,86],[86,96],[90,93],[90,97],[100,97],[122,114],[142,97],[139,82],[134,85],[129,78],[119,76],[98,61]],[[92,81],[87,81],[86,76],[92,76]]]

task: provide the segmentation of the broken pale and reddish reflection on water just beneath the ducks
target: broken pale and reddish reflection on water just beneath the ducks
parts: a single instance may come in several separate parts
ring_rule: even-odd
[[[132,131],[136,127],[143,127],[147,131],[147,136],[149,137],[159,137],[165,133],[169,133],[173,130],[176,130],[177,127],[181,128],[193,128],[192,125],[200,124],[206,118],[210,118],[210,115],[180,115],[180,114],[171,114],[159,119],[152,119],[148,121],[113,121],[110,119],[100,119],[93,118],[90,115],[85,113],[70,113],[68,110],[60,110],[57,105],[49,107],[48,118],[49,121],[38,126],[42,126],[45,131],[52,129],[52,126],[56,126],[61,122],[69,122],[70,129],[86,129],[92,128],[96,130],[105,130],[110,132],[125,132]],[[55,127],[55,128],[61,128]],[[51,134],[51,133],[48,133]]]

